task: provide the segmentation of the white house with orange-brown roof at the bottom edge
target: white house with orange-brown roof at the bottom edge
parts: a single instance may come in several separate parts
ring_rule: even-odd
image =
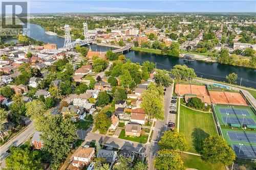
[[[79,147],[72,156],[71,164],[68,169],[83,169],[88,166],[95,156],[95,149],[88,147]]]

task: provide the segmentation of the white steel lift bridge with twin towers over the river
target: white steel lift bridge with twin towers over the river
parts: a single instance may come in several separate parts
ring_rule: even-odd
[[[64,28],[65,28],[65,42],[63,47],[65,48],[74,48],[77,45],[86,45],[93,42],[93,40],[88,35],[87,22],[83,22],[83,35],[84,35],[83,40],[78,38],[75,41],[71,41],[69,25],[65,25]]]

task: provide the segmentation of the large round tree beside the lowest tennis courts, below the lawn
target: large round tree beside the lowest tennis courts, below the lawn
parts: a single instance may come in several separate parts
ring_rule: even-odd
[[[222,136],[210,135],[203,141],[202,158],[210,163],[223,162],[230,165],[236,155]]]

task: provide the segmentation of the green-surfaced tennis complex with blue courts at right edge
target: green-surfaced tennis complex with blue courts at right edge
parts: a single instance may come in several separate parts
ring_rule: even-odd
[[[256,132],[243,130],[255,126],[256,115],[249,107],[214,106],[224,139],[237,156],[256,159]],[[230,126],[237,126],[231,129]],[[226,126],[225,126],[226,125]]]

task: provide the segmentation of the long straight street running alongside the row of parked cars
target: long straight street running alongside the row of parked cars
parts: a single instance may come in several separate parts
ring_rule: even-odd
[[[154,160],[155,160],[155,154],[157,154],[159,150],[158,140],[160,140],[160,137],[162,135],[162,132],[167,130],[167,123],[169,121],[169,106],[170,106],[170,100],[172,98],[173,93],[173,84],[172,86],[166,88],[165,95],[164,95],[164,120],[157,120],[156,126],[154,129],[154,133],[152,136],[151,143],[148,144],[146,149],[146,155],[147,155],[147,162],[148,162],[148,169],[153,170],[154,169]]]

